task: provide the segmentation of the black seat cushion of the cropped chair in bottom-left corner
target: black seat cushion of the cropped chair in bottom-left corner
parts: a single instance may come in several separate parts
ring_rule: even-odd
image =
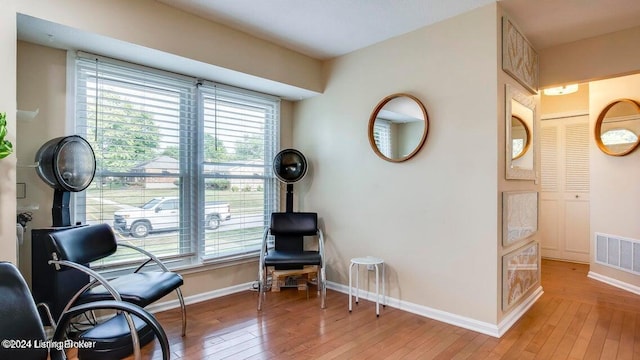
[[[138,332],[140,347],[151,342],[153,329],[142,319],[131,315]],[[79,348],[78,358],[89,360],[122,359],[133,354],[129,324],[123,313],[82,333],[78,340],[95,341],[94,347]]]

